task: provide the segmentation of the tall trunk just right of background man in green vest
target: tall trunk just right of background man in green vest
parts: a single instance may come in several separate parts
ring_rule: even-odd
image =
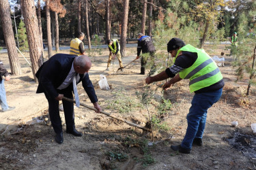
[[[124,0],[124,12],[122,20],[122,30],[120,38],[121,54],[126,56],[126,35],[127,35],[127,24],[128,24],[128,12],[129,12],[129,0]]]

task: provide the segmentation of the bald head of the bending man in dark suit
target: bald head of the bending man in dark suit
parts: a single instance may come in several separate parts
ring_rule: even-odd
[[[88,72],[89,69],[91,69],[91,60],[88,56],[82,55],[74,58],[74,71],[76,71],[76,73],[83,74]]]

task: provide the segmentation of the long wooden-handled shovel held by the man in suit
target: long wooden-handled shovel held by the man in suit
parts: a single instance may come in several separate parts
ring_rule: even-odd
[[[66,101],[70,101],[70,102],[72,102],[72,103],[76,103],[76,101],[74,101],[74,100],[72,100],[72,99],[68,99],[67,97],[63,97],[63,99],[66,100]],[[94,110],[94,111],[98,111],[97,109],[95,109],[94,107],[90,107],[89,105],[85,105],[85,104],[83,104],[83,103],[80,103],[80,105],[83,105],[83,107],[87,107],[88,109],[92,109],[92,110]],[[109,114],[109,113],[106,113],[106,112],[104,112],[104,111],[100,111],[100,114],[104,114],[104,115],[109,116],[109,117],[111,117],[111,118],[115,118],[115,119],[117,119],[117,120],[120,120],[120,121],[122,121],[122,122],[125,122],[125,123],[129,124],[130,126],[134,126],[134,127],[139,128],[139,129],[142,129],[143,132],[145,132],[145,131],[147,131],[147,132],[152,132],[152,129],[147,129],[146,127],[139,126],[139,124],[134,124],[134,123],[132,123],[132,122],[129,122],[128,120],[125,120],[125,119],[123,119],[123,118],[118,118],[118,117],[113,116],[113,115],[111,115],[111,114]],[[146,124],[146,126],[149,126],[149,125]]]

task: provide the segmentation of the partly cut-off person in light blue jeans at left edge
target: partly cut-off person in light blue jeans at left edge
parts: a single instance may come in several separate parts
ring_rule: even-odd
[[[8,112],[12,109],[15,109],[15,107],[11,107],[8,105],[6,100],[6,92],[5,92],[5,84],[3,80],[3,76],[5,77],[5,81],[9,81],[11,79],[8,71],[3,66],[3,62],[0,61],[0,104],[1,104],[1,112]]]

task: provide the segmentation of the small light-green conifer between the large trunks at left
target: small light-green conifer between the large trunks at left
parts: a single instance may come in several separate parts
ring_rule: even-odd
[[[18,43],[20,45],[20,50],[27,50],[29,48],[29,44],[27,43],[26,28],[23,20],[20,20],[20,24],[18,24]]]

